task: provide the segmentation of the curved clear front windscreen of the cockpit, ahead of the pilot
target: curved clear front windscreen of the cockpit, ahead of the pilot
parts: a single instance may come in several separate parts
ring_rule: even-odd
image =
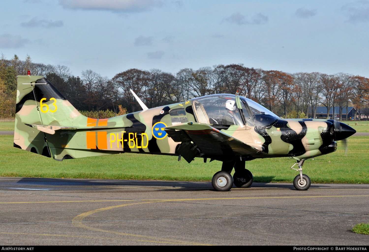
[[[245,120],[250,126],[266,126],[279,118],[275,113],[251,99],[245,97],[240,97],[240,99],[246,107],[248,115],[244,112]],[[242,111],[244,111],[243,107]]]

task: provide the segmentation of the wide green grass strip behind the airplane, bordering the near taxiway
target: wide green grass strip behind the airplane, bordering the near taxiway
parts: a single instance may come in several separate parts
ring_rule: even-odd
[[[304,174],[313,183],[369,183],[368,137],[349,137],[348,144],[347,156],[338,141],[336,152],[307,160]],[[255,182],[293,182],[298,174],[289,168],[293,164],[289,158],[264,158],[246,162],[246,168]],[[0,135],[0,176],[210,181],[220,168],[220,161],[195,158],[188,164],[174,156],[133,153],[58,162],[14,148],[13,136]]]

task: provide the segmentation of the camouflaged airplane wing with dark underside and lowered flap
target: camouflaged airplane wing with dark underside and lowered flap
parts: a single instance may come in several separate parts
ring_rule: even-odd
[[[196,148],[203,155],[250,155],[260,151],[204,123],[181,123],[165,127],[165,131],[175,142],[182,142],[178,152],[190,161],[193,158],[186,156],[189,152],[194,155]]]

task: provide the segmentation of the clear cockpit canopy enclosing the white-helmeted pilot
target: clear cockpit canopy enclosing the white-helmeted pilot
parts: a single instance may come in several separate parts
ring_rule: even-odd
[[[278,116],[251,99],[231,94],[192,99],[197,122],[214,125],[265,126]]]

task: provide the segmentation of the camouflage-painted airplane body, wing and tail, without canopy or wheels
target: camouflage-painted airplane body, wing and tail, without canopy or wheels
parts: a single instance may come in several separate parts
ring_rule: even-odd
[[[291,157],[299,161],[337,147],[333,120],[278,118],[265,126],[198,123],[193,110],[197,98],[91,119],[81,115],[44,77],[17,79],[14,147],[58,161],[124,152],[180,154],[188,162],[194,157],[220,161]],[[229,96],[242,109],[239,97]]]

